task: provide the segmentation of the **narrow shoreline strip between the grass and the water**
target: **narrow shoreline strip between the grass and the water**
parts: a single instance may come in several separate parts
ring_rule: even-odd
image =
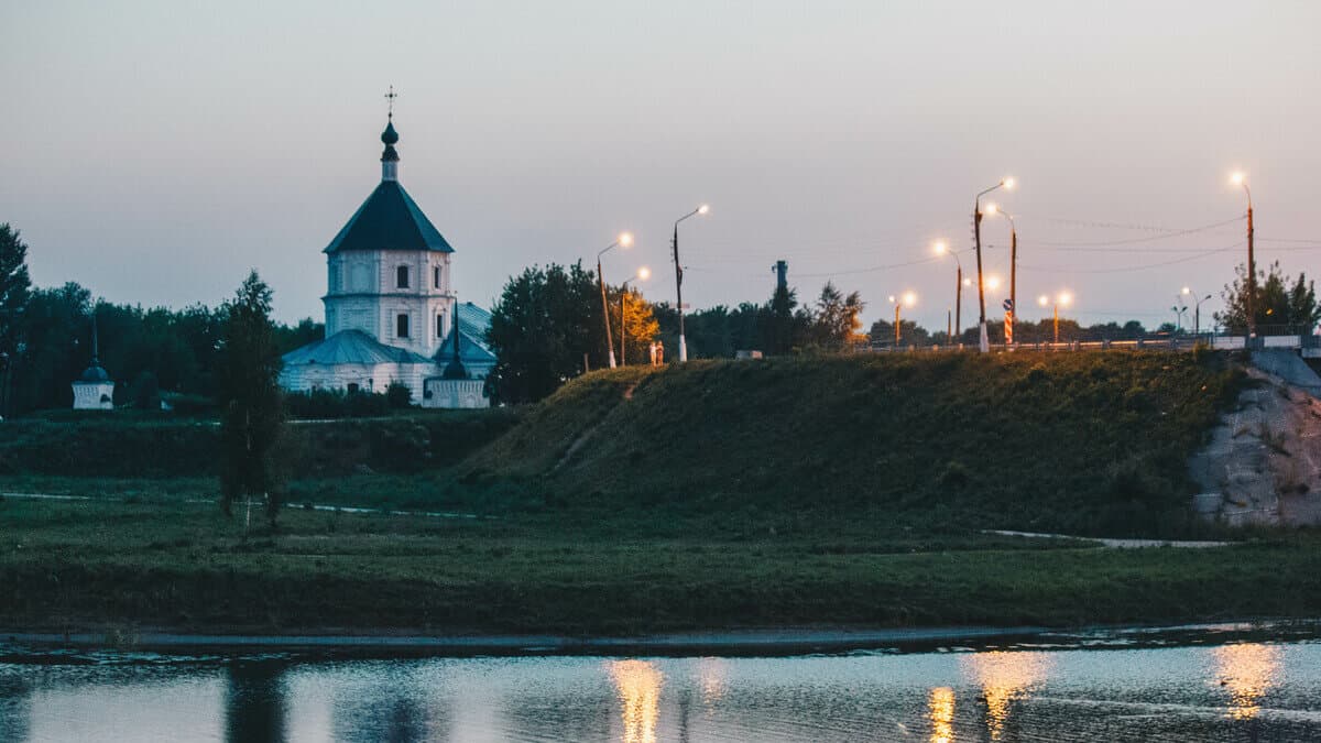
[[[1172,639],[1236,639],[1268,632],[1321,639],[1321,619],[1248,619],[1197,624],[1050,627],[783,628],[672,632],[641,636],[423,635],[423,633],[182,633],[0,631],[5,656],[54,649],[161,652],[280,652],[310,656],[469,657],[469,656],[802,656],[864,650],[962,650],[1037,641],[1045,646],[1132,646]],[[950,648],[954,645],[954,648]]]

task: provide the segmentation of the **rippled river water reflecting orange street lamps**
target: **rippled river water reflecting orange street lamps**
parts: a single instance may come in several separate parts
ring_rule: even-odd
[[[0,740],[1321,740],[1321,644],[0,664]],[[79,662],[73,662],[79,661]]]

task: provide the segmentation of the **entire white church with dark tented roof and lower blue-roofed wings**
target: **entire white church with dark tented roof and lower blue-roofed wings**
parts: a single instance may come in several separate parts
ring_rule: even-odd
[[[399,185],[392,112],[380,141],[380,185],[324,250],[326,337],[284,356],[280,385],[384,391],[400,382],[423,407],[486,407],[490,312],[458,303],[454,249]]]

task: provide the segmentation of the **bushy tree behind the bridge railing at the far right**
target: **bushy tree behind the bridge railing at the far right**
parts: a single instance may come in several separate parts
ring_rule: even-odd
[[[1225,309],[1215,313],[1215,321],[1230,333],[1247,333],[1247,268],[1240,263],[1235,270],[1234,283],[1225,287],[1221,297]],[[1280,271],[1280,263],[1271,264],[1269,272],[1258,270],[1256,301],[1252,305],[1258,332],[1309,333],[1321,320],[1321,307],[1317,305],[1316,286],[1306,280],[1305,274],[1289,286],[1289,278]]]

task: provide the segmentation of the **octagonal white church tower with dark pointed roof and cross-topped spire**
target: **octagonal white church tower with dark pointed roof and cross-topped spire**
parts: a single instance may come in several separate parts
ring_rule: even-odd
[[[391,91],[391,103],[394,103]],[[399,185],[394,108],[380,134],[380,185],[326,246],[326,336],[362,331],[433,357],[453,321],[454,249]]]

